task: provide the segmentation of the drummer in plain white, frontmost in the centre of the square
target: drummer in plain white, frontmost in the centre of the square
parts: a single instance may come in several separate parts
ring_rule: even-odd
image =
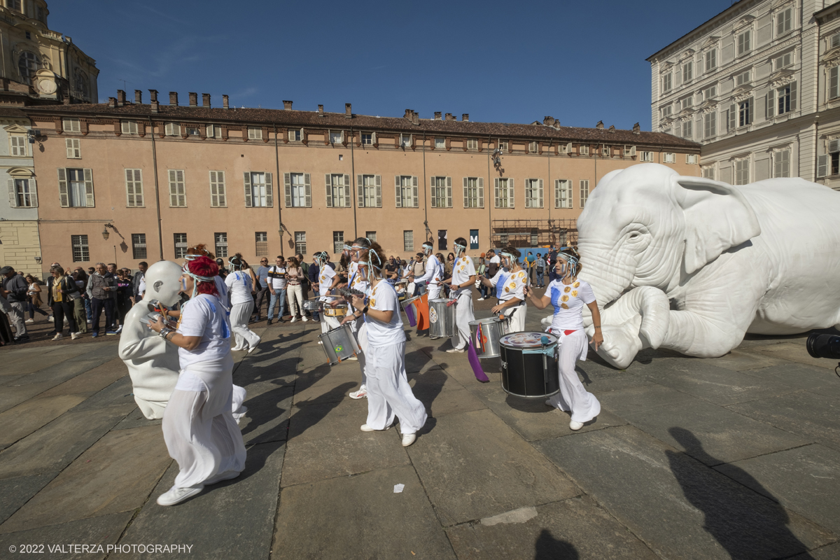
[[[426,407],[417,400],[406,376],[406,333],[402,330],[400,302],[394,286],[382,279],[385,253],[378,243],[360,252],[359,260],[370,270],[370,298],[353,297],[357,315],[367,324],[368,417],[362,432],[387,430],[395,416],[400,421],[402,446],[417,438],[426,423]]]

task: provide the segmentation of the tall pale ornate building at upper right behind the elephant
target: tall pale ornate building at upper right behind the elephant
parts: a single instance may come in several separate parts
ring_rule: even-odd
[[[702,144],[702,174],[840,188],[840,3],[740,0],[651,65],[653,129]]]

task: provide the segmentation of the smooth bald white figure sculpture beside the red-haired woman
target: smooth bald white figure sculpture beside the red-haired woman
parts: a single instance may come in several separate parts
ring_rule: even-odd
[[[119,357],[129,368],[134,401],[149,420],[163,418],[163,411],[178,381],[178,348],[166,343],[143,321],[154,322],[150,301],[171,308],[181,290],[181,266],[161,260],[146,270],[146,293],[125,316],[119,338]]]

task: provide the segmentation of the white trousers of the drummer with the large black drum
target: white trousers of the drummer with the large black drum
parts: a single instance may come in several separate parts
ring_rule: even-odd
[[[575,364],[579,359],[586,359],[589,340],[583,329],[568,335],[563,332],[552,332],[552,334],[560,338],[560,356],[557,360],[560,392],[549,400],[555,408],[571,412],[573,421],[588,422],[601,413],[601,403],[595,395],[584,389],[575,371]]]

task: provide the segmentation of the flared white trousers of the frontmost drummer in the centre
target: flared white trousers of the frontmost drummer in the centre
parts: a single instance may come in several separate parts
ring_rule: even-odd
[[[406,343],[367,348],[367,425],[374,430],[400,419],[400,432],[416,433],[426,423],[426,407],[417,400],[406,377]]]

